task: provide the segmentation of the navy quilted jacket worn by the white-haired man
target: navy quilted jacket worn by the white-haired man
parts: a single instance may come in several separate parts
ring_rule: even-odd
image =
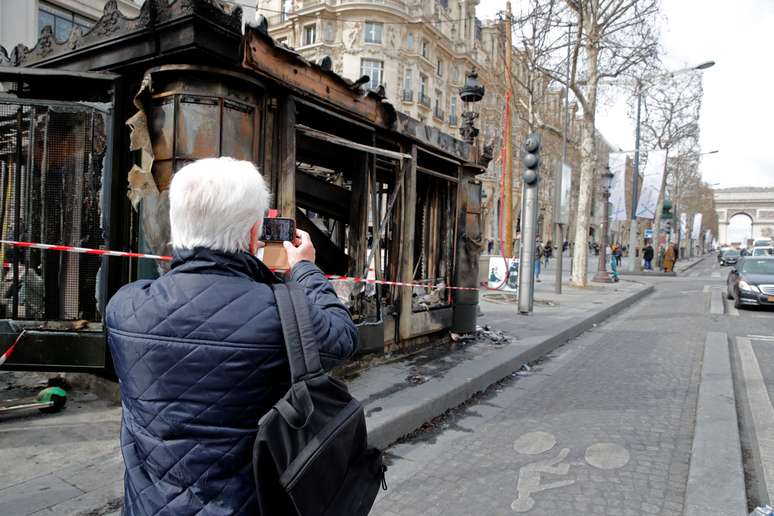
[[[320,269],[293,268],[306,288],[323,365],[351,355],[357,330]],[[290,372],[269,283],[247,253],[175,254],[172,270],[124,286],[106,323],[121,386],[124,514],[256,514],[258,419]],[[281,515],[277,515],[281,516]]]

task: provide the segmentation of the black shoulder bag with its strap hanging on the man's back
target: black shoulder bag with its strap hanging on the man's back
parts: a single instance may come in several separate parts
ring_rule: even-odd
[[[365,415],[322,369],[308,301],[297,283],[272,285],[292,385],[258,422],[253,471],[262,516],[365,516],[385,486]]]

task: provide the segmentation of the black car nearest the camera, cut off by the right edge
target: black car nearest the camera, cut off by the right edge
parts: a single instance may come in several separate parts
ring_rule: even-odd
[[[748,257],[731,269],[726,295],[734,306],[774,306],[774,256]]]

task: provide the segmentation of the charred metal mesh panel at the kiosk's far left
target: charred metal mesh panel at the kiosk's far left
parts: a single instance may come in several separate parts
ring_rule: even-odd
[[[105,118],[84,106],[0,103],[0,234],[101,247]],[[0,316],[99,320],[96,256],[4,247]]]

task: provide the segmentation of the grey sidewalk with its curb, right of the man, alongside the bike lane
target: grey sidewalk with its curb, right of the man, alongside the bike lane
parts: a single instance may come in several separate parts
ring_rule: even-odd
[[[478,346],[462,358],[459,353],[452,354],[445,359],[448,367],[442,367],[437,374],[436,369],[430,374],[420,372],[415,383],[406,381],[405,363],[370,369],[350,382],[353,396],[363,400],[365,405],[369,441],[377,447],[388,446],[652,291],[650,285],[631,284],[628,291],[617,295],[586,297],[583,307],[568,303],[566,307],[556,307],[556,314],[546,309],[548,314],[542,317],[520,316],[515,305],[506,304],[503,308],[489,303],[483,309],[485,313],[487,310],[494,313],[489,318],[482,318],[482,324],[491,320],[492,327],[510,330],[518,340],[489,349]],[[585,295],[594,295],[594,290],[587,289]],[[594,302],[599,305],[590,310],[589,305],[594,306]]]

